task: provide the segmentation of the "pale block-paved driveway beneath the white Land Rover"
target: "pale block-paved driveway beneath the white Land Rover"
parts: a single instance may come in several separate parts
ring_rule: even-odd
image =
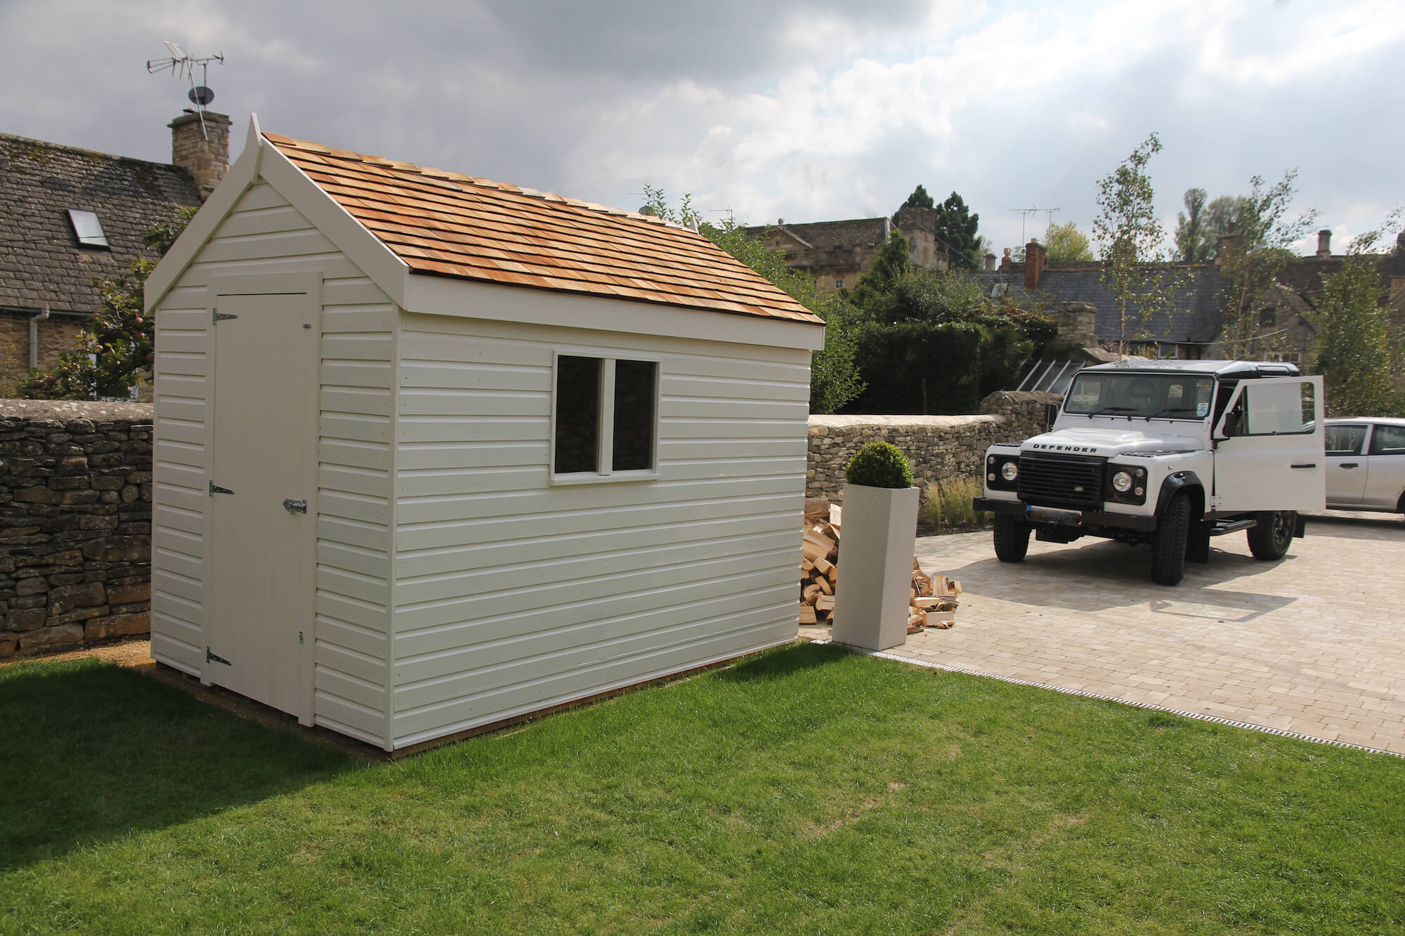
[[[1280,562],[1217,537],[1176,587],[1151,582],[1148,547],[1096,538],[1031,540],[1019,565],[988,533],[917,555],[965,594],[954,628],[892,655],[1405,755],[1398,514],[1309,516]]]

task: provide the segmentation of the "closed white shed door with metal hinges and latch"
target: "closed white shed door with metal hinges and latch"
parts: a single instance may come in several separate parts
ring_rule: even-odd
[[[221,295],[209,648],[205,677],[303,713],[315,590],[318,305],[308,294]],[[223,318],[233,316],[233,318]],[[284,500],[308,502],[306,513]]]

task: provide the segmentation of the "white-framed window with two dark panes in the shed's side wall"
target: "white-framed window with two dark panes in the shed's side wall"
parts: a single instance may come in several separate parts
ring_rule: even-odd
[[[551,474],[556,482],[655,476],[659,363],[556,356]]]

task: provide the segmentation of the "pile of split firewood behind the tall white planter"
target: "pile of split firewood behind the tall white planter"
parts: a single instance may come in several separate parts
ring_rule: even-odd
[[[839,541],[843,535],[843,512],[825,498],[805,499],[805,540],[799,561],[799,623],[832,624],[835,586],[839,583]],[[923,572],[912,558],[908,632],[920,634],[926,627],[947,630],[955,623],[961,583],[944,575]]]

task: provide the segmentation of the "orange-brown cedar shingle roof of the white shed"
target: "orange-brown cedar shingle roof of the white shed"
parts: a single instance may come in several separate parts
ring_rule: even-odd
[[[658,218],[264,136],[412,273],[821,322],[707,238]]]

